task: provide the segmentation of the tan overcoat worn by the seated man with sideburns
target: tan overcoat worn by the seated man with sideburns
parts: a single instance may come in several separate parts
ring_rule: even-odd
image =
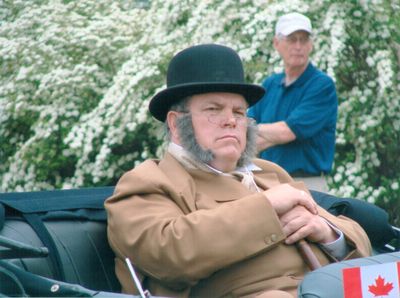
[[[261,189],[293,184],[276,164],[259,159],[255,164],[262,169],[254,172]],[[295,294],[308,271],[297,248],[284,244],[279,219],[263,194],[230,177],[188,171],[168,153],[123,175],[105,207],[116,274],[126,293],[138,293],[126,257],[145,288],[170,297],[252,296],[271,289]],[[370,254],[357,223],[322,208],[319,214],[344,233],[351,247],[346,258]],[[311,246],[322,264],[334,261]]]

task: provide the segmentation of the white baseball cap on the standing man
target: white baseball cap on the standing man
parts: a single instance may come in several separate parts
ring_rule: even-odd
[[[312,33],[311,21],[305,15],[292,12],[281,16],[275,26],[275,35],[288,36],[295,31]]]

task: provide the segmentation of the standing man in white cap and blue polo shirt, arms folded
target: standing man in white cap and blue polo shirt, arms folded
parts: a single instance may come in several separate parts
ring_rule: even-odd
[[[333,80],[310,61],[312,25],[289,13],[278,19],[274,48],[284,72],[263,82],[264,97],[249,109],[259,123],[258,150],[310,189],[328,191],[324,175],[332,169],[338,100]]]

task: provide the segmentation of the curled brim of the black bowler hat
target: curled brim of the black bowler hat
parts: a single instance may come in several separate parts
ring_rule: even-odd
[[[187,96],[210,92],[229,92],[243,95],[249,106],[259,101],[265,89],[254,84],[233,83],[193,83],[170,87],[157,93],[150,101],[150,113],[159,121],[164,122],[171,105]]]

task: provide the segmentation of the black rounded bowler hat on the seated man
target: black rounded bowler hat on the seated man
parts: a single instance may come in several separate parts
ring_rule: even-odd
[[[246,84],[239,55],[226,46],[204,44],[176,54],[168,66],[167,88],[150,101],[150,113],[164,122],[174,103],[187,96],[208,92],[243,95],[249,106],[264,95],[263,87]]]

